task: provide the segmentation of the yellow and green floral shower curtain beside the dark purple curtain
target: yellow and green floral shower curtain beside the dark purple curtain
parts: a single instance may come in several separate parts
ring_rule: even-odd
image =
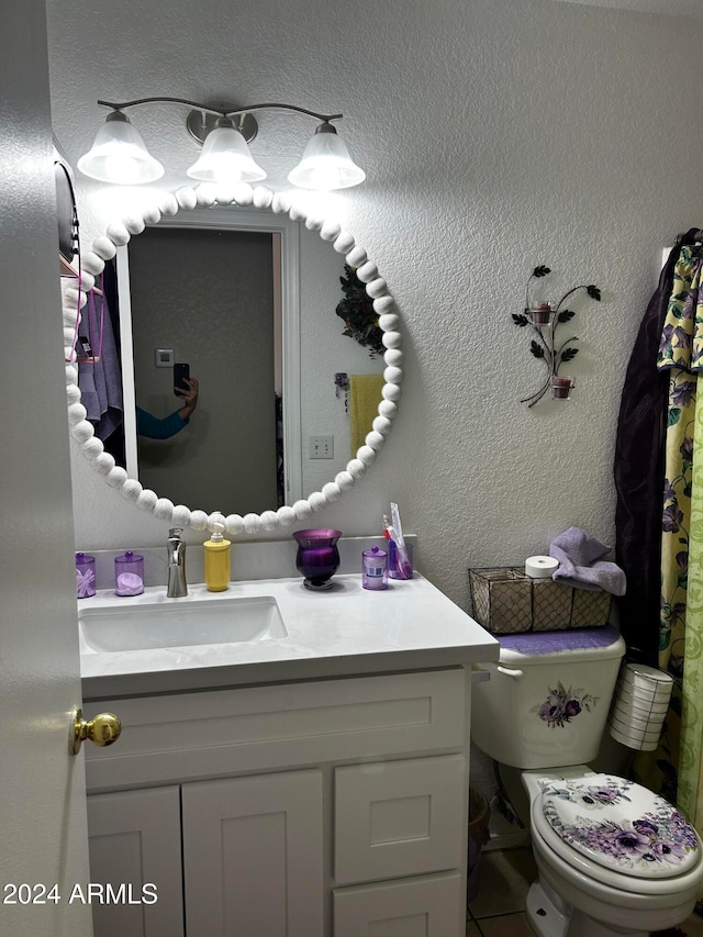
[[[659,749],[641,754],[636,771],[676,801],[703,832],[703,250],[681,248],[657,367],[669,376],[661,522],[659,667],[676,678]],[[698,453],[698,471],[694,454]]]

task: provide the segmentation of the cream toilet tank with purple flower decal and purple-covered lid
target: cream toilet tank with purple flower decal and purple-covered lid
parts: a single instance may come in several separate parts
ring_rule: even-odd
[[[625,642],[616,628],[503,635],[489,680],[471,693],[471,740],[515,768],[595,758]]]

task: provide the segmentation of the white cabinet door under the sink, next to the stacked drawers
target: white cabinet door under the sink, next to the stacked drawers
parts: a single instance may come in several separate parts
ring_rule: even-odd
[[[322,937],[322,772],[183,784],[186,929]]]

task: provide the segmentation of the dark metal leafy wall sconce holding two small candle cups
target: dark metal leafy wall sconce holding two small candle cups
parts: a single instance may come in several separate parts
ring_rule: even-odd
[[[513,322],[521,328],[529,326],[535,337],[529,343],[529,350],[535,358],[542,360],[547,369],[547,376],[535,393],[529,397],[524,397],[520,402],[526,403],[528,406],[534,406],[538,403],[545,393],[551,388],[551,397],[555,400],[568,400],[571,388],[574,387],[573,378],[560,377],[559,368],[561,365],[572,361],[579,354],[579,349],[573,347],[573,342],[578,342],[578,337],[572,335],[566,341],[557,339],[557,330],[560,325],[569,322],[576,313],[573,310],[566,309],[565,303],[574,293],[584,290],[587,294],[595,300],[601,301],[601,291],[594,283],[580,285],[572,287],[561,297],[557,303],[548,302],[545,299],[535,300],[531,297],[531,287],[534,280],[542,280],[551,272],[549,267],[540,265],[535,267],[527,280],[525,289],[525,309],[522,313],[513,313]]]

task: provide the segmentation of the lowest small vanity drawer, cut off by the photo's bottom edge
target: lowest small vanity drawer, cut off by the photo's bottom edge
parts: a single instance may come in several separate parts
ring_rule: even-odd
[[[334,937],[460,937],[462,894],[458,872],[336,889]]]

